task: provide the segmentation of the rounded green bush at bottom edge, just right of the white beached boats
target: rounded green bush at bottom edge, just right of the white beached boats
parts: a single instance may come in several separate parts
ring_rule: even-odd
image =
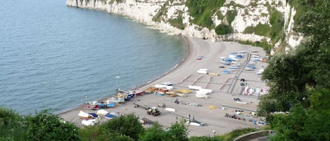
[[[120,116],[101,125],[109,133],[126,135],[134,140],[139,139],[139,134],[144,133],[144,127],[139,122],[139,117],[134,114]]]

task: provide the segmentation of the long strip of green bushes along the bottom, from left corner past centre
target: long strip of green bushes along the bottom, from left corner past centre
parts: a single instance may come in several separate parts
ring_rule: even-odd
[[[10,118],[8,118],[10,117]],[[255,131],[253,128],[233,130],[219,136],[188,137],[188,126],[185,120],[172,123],[164,128],[156,123],[144,128],[139,118],[127,114],[106,121],[101,125],[78,128],[72,123],[65,123],[61,118],[46,111],[35,115],[20,116],[11,109],[0,107],[0,141],[6,140],[88,140],[88,141],[212,141],[234,140],[240,135]]]

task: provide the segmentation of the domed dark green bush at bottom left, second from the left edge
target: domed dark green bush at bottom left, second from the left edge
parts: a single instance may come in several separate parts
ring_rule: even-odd
[[[77,126],[46,110],[25,117],[27,140],[80,140]]]

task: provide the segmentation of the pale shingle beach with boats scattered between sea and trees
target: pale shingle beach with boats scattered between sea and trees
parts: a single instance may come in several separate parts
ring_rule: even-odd
[[[250,116],[250,113],[256,112],[258,105],[258,96],[241,95],[241,79],[245,79],[246,86],[253,88],[263,88],[265,82],[261,81],[260,75],[255,74],[262,67],[266,67],[267,63],[259,61],[255,65],[253,71],[244,70],[244,66],[249,60],[251,53],[259,53],[260,58],[265,57],[265,51],[259,47],[242,45],[235,42],[212,42],[210,40],[198,39],[195,37],[185,37],[188,44],[188,53],[186,58],[177,65],[172,71],[161,76],[160,78],[141,86],[140,90],[145,90],[154,84],[161,84],[167,81],[173,83],[174,90],[188,89],[188,86],[201,86],[202,88],[211,89],[212,93],[208,94],[208,98],[196,98],[196,91],[187,94],[187,97],[167,97],[155,94],[139,95],[132,101],[124,104],[117,104],[113,108],[105,109],[108,112],[121,112],[123,114],[134,113],[139,119],[146,118],[151,121],[158,121],[163,126],[171,126],[178,119],[188,119],[189,115],[196,121],[205,123],[205,126],[189,126],[189,136],[212,136],[222,135],[231,130],[238,128],[262,128],[253,124],[253,120],[258,118]],[[241,63],[241,67],[230,74],[222,74],[224,69],[229,66],[221,62],[221,58],[228,57],[230,53],[238,53],[246,51],[243,58],[236,61]],[[197,60],[197,58],[201,58]],[[220,68],[224,66],[224,68]],[[198,69],[208,69],[209,72],[217,73],[219,76],[210,74],[198,74]],[[239,98],[241,103],[236,102],[234,98]],[[179,104],[174,103],[178,100]],[[147,107],[157,107],[160,103],[165,103],[166,107],[176,109],[176,112],[165,111],[164,108],[158,107],[161,114],[159,116],[151,116],[146,114],[146,109],[136,107],[134,102]],[[201,105],[201,106],[196,106]],[[81,126],[80,110],[84,112],[95,112],[82,107],[72,109],[68,112],[58,114],[60,117],[72,123]],[[226,114],[237,114],[241,112],[240,119],[226,117]],[[101,121],[110,119],[102,118]]]

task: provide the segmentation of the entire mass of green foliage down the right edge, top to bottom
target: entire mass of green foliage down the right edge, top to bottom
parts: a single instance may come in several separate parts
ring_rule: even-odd
[[[305,8],[296,17],[296,31],[305,40],[270,60],[262,79],[271,89],[260,98],[258,112],[276,131],[272,140],[330,140],[330,1],[289,2]]]

